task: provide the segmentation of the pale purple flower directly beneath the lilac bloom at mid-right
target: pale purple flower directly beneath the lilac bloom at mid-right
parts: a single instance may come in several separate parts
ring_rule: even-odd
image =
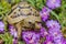
[[[52,29],[50,29],[48,30],[48,33],[50,33],[50,35],[52,35],[54,38],[62,38],[63,37],[63,35],[62,35],[62,32],[61,31],[58,31],[58,30],[52,30]]]

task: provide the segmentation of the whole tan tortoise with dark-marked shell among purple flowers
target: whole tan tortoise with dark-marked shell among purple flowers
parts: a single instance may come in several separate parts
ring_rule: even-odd
[[[26,1],[13,6],[7,20],[9,24],[16,28],[18,37],[20,37],[21,30],[40,29],[38,23],[41,23],[40,12]]]

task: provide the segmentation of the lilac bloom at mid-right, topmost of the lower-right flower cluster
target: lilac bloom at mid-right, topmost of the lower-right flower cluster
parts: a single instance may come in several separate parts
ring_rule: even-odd
[[[50,20],[46,22],[46,25],[48,29],[55,29],[55,30],[59,30],[61,29],[61,25],[57,21],[54,21],[54,20]]]

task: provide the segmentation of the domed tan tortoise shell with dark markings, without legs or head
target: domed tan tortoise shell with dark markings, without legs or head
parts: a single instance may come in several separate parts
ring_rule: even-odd
[[[38,11],[32,8],[28,2],[20,2],[12,8],[8,15],[8,22],[14,24],[22,20],[25,22],[40,22],[41,16]]]

